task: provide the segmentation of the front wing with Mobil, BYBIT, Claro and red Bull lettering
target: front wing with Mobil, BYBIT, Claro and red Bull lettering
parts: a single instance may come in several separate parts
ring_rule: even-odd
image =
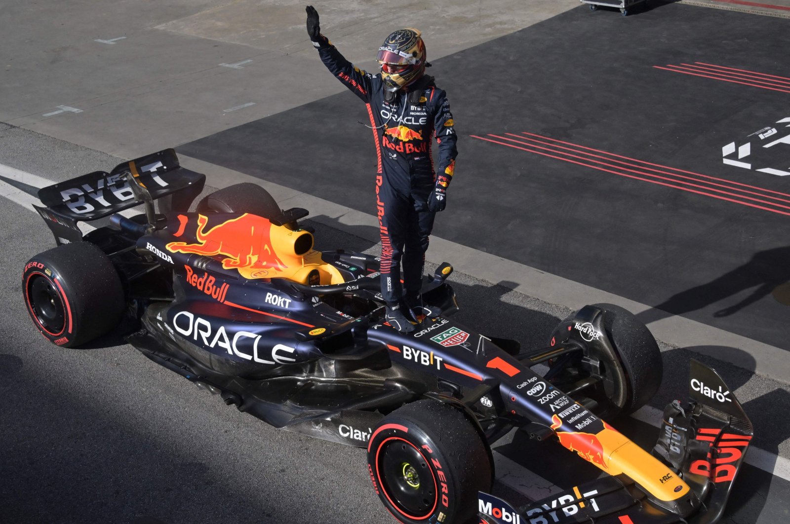
[[[753,427],[735,395],[717,372],[690,362],[690,402],[664,410],[653,455],[690,486],[702,504],[678,515],[651,500],[620,475],[574,486],[525,507],[480,492],[480,524],[668,524],[717,522],[751,443]],[[671,481],[670,476],[665,479]]]

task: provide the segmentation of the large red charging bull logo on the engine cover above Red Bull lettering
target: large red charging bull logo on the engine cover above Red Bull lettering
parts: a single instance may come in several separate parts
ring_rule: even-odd
[[[235,268],[246,279],[254,278],[253,273],[261,269],[282,271],[285,264],[272,245],[272,223],[257,215],[245,213],[235,219],[226,220],[206,231],[209,219],[198,215],[198,229],[195,244],[170,242],[167,249],[171,253],[195,253],[204,256],[223,255],[222,267]]]

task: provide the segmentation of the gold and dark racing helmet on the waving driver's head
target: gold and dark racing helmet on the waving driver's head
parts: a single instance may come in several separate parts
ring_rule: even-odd
[[[376,61],[382,65],[387,91],[412,84],[425,73],[425,43],[417,29],[398,29],[378,48]]]

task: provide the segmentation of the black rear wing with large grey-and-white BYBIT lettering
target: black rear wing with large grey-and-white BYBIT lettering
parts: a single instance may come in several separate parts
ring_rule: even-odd
[[[205,174],[181,167],[175,150],[169,148],[120,163],[109,173],[93,171],[39,189],[39,200],[46,207],[34,207],[58,244],[79,241],[82,234],[77,222],[102,219],[144,203],[130,187],[129,176],[153,200],[169,197],[165,207],[173,210],[186,211],[205,185]]]

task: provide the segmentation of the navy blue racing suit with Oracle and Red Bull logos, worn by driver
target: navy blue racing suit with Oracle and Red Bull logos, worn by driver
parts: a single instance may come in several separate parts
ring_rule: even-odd
[[[321,40],[314,45],[324,65],[367,104],[378,155],[376,207],[382,238],[382,297],[386,302],[397,302],[403,294],[401,257],[404,287],[408,294],[419,293],[436,215],[428,211],[427,200],[437,189],[443,195],[453,178],[458,153],[450,104],[445,92],[427,76],[401,89],[388,102],[380,74],[365,73],[348,62],[328,39],[321,36]],[[439,149],[435,171],[433,137]]]

